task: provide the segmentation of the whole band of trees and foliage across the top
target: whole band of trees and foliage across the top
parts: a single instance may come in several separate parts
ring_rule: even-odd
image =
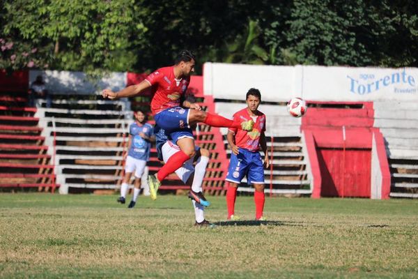
[[[418,66],[413,1],[3,0],[0,68],[144,72],[205,61]]]

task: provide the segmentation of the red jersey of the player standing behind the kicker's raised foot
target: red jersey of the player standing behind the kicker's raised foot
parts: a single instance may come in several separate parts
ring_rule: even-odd
[[[265,132],[265,115],[263,112],[257,110],[255,116],[250,116],[247,107],[243,110],[239,110],[233,114],[234,121],[254,121],[253,130],[248,132],[246,130],[238,130],[237,128],[229,128],[231,132],[235,133],[235,144],[249,151],[258,151],[260,144],[261,133]]]

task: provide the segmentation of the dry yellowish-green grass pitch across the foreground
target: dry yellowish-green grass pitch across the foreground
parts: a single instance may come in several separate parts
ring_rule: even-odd
[[[0,278],[417,278],[418,201],[268,198],[254,219],[210,197],[194,227],[186,197],[0,194]],[[245,221],[247,220],[247,221]]]

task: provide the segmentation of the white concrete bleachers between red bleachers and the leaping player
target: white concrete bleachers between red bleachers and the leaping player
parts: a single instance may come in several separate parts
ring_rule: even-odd
[[[42,135],[49,146],[56,143],[60,193],[116,189],[132,122],[127,101],[102,100],[91,94],[54,95],[51,108],[45,107],[45,100],[39,100],[38,106]]]

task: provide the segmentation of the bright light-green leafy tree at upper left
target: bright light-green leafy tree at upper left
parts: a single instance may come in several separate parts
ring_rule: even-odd
[[[9,52],[17,57],[22,50],[42,50],[37,68],[126,70],[136,61],[132,33],[146,31],[136,21],[138,10],[132,0],[6,1],[1,36],[13,41]],[[13,62],[8,55],[2,53],[3,68],[28,66],[29,59]]]

